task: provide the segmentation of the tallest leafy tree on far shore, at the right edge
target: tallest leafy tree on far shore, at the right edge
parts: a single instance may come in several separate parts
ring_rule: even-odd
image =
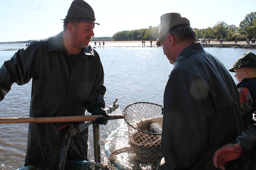
[[[239,24],[239,33],[247,35],[248,38],[253,38],[256,35],[255,30],[253,29],[253,22],[256,18],[256,12],[251,12],[247,14],[243,21]]]

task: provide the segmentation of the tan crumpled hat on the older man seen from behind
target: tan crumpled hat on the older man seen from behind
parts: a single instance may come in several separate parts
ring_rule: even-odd
[[[160,17],[160,29],[156,40],[156,45],[160,46],[160,41],[163,36],[165,36],[168,31],[175,26],[179,25],[188,25],[190,26],[190,22],[187,18],[181,17],[179,13],[166,13]]]

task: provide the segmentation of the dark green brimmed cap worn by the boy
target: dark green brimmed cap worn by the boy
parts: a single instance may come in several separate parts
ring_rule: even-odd
[[[247,52],[244,55],[240,56],[236,62],[233,64],[233,67],[229,69],[230,72],[235,72],[234,69],[243,68],[243,67],[254,67],[256,68],[256,55],[252,52]]]

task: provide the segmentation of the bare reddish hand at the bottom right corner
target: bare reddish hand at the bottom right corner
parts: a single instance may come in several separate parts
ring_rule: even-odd
[[[242,147],[240,144],[226,144],[215,151],[212,161],[216,168],[225,170],[226,162],[240,158],[242,156]]]

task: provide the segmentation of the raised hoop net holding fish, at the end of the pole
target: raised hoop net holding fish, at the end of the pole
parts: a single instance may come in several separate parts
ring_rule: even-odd
[[[149,102],[132,103],[124,108],[132,150],[144,161],[158,161],[160,151],[163,115],[160,105]]]

